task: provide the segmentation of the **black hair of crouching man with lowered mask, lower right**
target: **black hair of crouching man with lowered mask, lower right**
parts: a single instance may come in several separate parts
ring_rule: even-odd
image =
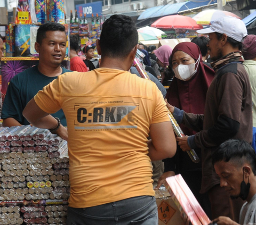
[[[212,164],[214,165],[219,161],[232,161],[237,167],[249,163],[253,174],[256,175],[256,153],[245,140],[229,139],[223,142],[212,154]]]

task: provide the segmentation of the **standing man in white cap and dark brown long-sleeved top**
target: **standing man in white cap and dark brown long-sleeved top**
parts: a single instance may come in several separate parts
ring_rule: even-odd
[[[209,34],[211,65],[216,73],[207,91],[204,115],[185,113],[169,106],[178,122],[199,131],[177,140],[183,151],[202,149],[201,193],[209,194],[212,218],[228,216],[238,222],[243,202],[239,199],[231,201],[214,171],[211,154],[230,138],[252,142],[251,87],[241,52],[247,30],[241,20],[225,16],[215,20],[210,28],[197,32]]]

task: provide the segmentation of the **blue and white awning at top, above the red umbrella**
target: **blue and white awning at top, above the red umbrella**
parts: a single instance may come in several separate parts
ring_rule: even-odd
[[[212,1],[211,0],[205,0],[205,1],[194,0],[194,1],[188,1],[188,2],[155,6],[142,12],[138,20],[145,20],[148,18],[155,18],[155,17],[164,16],[164,15],[173,15],[173,14],[179,13],[180,11],[191,10],[201,6],[212,5],[216,3],[217,3],[217,0],[212,0]]]

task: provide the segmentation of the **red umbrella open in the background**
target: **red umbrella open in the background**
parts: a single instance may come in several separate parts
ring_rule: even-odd
[[[203,26],[201,24],[197,24],[194,19],[184,15],[164,16],[151,24],[151,27],[190,30],[203,29]]]

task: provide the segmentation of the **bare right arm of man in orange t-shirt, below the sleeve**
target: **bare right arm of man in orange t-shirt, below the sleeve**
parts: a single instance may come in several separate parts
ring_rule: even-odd
[[[176,152],[176,140],[171,121],[154,123],[150,125],[148,141],[148,156],[151,161],[171,158]]]

